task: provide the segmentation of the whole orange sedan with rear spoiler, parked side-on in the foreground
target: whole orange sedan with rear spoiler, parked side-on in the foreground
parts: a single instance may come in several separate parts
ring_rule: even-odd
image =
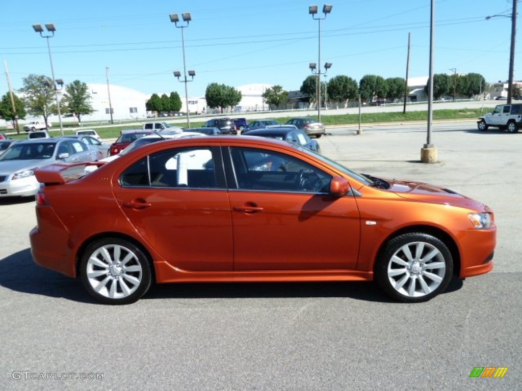
[[[453,274],[493,268],[488,206],[354,173],[282,141],[168,140],[35,175],[44,184],[35,262],[78,277],[103,303],[134,302],[152,281],[327,280],[376,280],[392,298],[419,302]]]

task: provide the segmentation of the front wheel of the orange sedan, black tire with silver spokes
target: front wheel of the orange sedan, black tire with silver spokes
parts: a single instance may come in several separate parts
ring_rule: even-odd
[[[432,299],[446,289],[452,274],[453,258],[447,246],[422,232],[390,239],[375,264],[379,287],[405,303]]]

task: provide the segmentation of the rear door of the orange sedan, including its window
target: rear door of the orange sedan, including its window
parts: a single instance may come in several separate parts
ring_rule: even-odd
[[[160,254],[156,262],[187,271],[232,270],[230,204],[216,161],[217,147],[170,148],[140,158],[118,176],[116,201]]]

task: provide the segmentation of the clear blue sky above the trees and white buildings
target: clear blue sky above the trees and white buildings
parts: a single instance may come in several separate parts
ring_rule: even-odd
[[[328,78],[365,74],[405,77],[411,33],[410,77],[428,75],[430,0],[331,0],[321,22],[321,63],[333,63]],[[55,77],[71,82],[110,81],[144,93],[177,91],[184,85],[172,75],[183,72],[181,29],[169,15],[190,12],[185,29],[191,97],[204,96],[211,82],[238,87],[280,84],[298,90],[317,62],[318,22],[303,0],[0,0],[0,59],[7,61],[14,89],[27,75],[51,76],[45,39],[35,23],[54,23],[51,38]],[[477,72],[488,82],[506,80],[512,0],[436,0],[434,72]],[[520,7],[519,4],[519,15]],[[320,14],[322,15],[322,14]],[[520,31],[520,17],[518,17]],[[515,80],[522,79],[518,37]],[[4,72],[2,72],[4,73]],[[7,91],[0,78],[0,93]]]

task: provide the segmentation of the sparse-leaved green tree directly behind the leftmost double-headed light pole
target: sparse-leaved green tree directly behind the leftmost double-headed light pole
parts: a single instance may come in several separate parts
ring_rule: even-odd
[[[49,127],[48,118],[51,114],[57,114],[55,92],[53,91],[53,79],[44,75],[31,74],[22,79],[23,101],[27,112],[33,116],[42,116],[45,125]]]

